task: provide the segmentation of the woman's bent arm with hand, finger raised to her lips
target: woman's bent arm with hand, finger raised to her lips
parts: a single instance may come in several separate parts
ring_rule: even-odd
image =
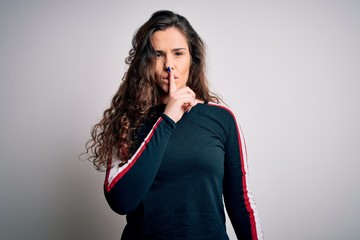
[[[195,93],[188,87],[177,89],[174,74],[168,69],[169,95],[164,113],[124,166],[118,167],[115,161],[108,167],[105,197],[119,214],[134,211],[144,199],[154,182],[176,122],[194,105]]]

